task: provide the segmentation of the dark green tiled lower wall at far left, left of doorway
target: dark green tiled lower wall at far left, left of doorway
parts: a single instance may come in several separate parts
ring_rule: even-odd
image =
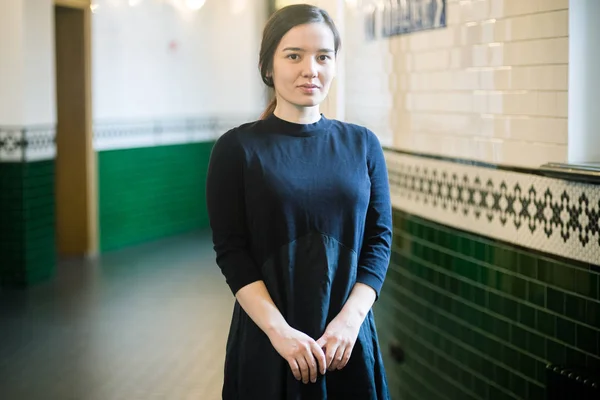
[[[0,163],[0,287],[54,275],[54,161]]]

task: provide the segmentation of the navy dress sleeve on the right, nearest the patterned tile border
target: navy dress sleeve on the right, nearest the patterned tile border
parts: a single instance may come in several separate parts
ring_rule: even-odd
[[[391,253],[392,205],[383,149],[375,134],[370,131],[367,134],[371,194],[356,280],[372,287],[379,297]]]

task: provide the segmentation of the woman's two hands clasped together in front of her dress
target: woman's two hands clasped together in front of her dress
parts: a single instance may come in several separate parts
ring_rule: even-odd
[[[317,340],[289,326],[270,340],[297,380],[315,383],[318,373],[324,375],[325,370],[340,370],[346,366],[360,325],[358,318],[338,315]]]

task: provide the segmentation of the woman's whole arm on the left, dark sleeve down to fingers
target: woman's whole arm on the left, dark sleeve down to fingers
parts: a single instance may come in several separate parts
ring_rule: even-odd
[[[230,290],[273,347],[290,364],[296,379],[316,381],[325,373],[325,355],[316,342],[290,327],[273,302],[248,252],[244,202],[244,153],[235,131],[215,143],[207,173],[206,203],[217,265]]]

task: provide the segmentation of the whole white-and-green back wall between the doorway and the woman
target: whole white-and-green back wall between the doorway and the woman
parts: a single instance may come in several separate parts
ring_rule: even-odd
[[[96,3],[100,249],[207,227],[212,143],[265,103],[257,64],[266,4]]]

